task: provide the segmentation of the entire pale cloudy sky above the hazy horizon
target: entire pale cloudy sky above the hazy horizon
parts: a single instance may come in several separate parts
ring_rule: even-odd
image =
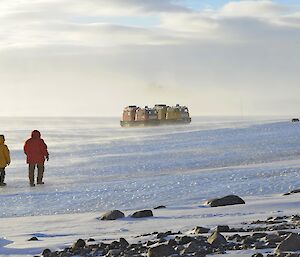
[[[0,0],[0,116],[300,115],[298,0]]]

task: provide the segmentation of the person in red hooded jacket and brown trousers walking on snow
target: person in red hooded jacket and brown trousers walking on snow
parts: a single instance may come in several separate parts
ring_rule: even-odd
[[[43,175],[45,170],[45,159],[49,160],[49,153],[47,150],[47,145],[41,138],[41,133],[38,130],[34,130],[31,133],[31,138],[29,138],[24,145],[24,153],[26,154],[27,163],[29,164],[29,183],[30,186],[35,186],[34,184],[34,170],[37,166],[37,184],[44,184]]]

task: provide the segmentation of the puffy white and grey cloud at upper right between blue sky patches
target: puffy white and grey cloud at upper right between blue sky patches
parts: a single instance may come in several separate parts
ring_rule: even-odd
[[[161,27],[182,39],[238,43],[299,40],[298,12],[272,1],[230,2],[217,10],[161,15]]]

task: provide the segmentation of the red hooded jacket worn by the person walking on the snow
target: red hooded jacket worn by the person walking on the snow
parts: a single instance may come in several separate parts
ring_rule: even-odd
[[[41,139],[41,133],[34,130],[24,145],[24,153],[27,156],[27,163],[29,164],[43,164],[45,158],[48,157],[47,145]]]

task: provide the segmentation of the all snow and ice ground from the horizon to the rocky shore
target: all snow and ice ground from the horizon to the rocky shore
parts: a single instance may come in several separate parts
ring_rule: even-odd
[[[0,256],[32,256],[79,237],[109,240],[300,212],[300,124],[288,119],[194,118],[120,128],[117,118],[0,118],[12,164],[0,188]],[[31,130],[49,147],[45,185],[30,188],[22,151]],[[208,208],[237,194],[246,205]],[[100,222],[101,213],[166,205],[155,217]],[[37,236],[40,241],[28,242]],[[228,255],[227,255],[228,256]],[[251,256],[242,253],[239,256]]]

